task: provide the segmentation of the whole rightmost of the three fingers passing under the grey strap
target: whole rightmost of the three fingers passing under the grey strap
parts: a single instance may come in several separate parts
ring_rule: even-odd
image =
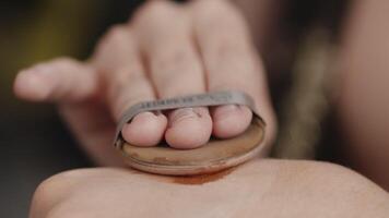
[[[269,107],[264,73],[241,15],[224,1],[194,1],[191,12],[209,90],[243,90],[254,97],[262,114],[263,107]],[[216,107],[212,110],[213,133],[235,136],[247,129],[251,117],[247,107]]]

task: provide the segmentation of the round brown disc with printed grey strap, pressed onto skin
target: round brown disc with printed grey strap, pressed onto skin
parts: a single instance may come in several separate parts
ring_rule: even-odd
[[[139,112],[228,104],[245,105],[254,111],[249,128],[233,138],[211,138],[200,148],[175,149],[165,142],[155,147],[138,147],[125,142],[120,134],[122,125]],[[172,175],[203,174],[237,166],[264,152],[264,130],[266,124],[256,113],[254,101],[248,95],[241,92],[219,92],[141,102],[131,107],[118,125],[115,146],[129,166],[142,171]]]

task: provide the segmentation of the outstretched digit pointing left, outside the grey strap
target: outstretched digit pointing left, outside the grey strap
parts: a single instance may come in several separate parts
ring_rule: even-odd
[[[22,70],[14,93],[34,101],[81,101],[98,90],[96,72],[75,60],[60,58]]]

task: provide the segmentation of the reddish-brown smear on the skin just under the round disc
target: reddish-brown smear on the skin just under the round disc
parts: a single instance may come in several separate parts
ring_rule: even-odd
[[[177,184],[188,184],[188,185],[201,185],[209,182],[217,181],[226,175],[228,175],[234,168],[229,168],[220,172],[214,172],[210,174],[198,174],[198,175],[182,175],[174,177],[173,182]]]

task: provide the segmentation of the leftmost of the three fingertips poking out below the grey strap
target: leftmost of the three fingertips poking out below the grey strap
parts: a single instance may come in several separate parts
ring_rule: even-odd
[[[130,123],[121,130],[126,142],[137,146],[155,146],[164,136],[167,118],[164,114],[142,112],[137,114]]]

